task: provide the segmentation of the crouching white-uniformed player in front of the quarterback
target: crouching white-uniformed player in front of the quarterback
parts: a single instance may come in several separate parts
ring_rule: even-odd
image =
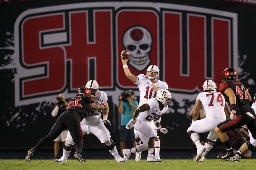
[[[134,117],[129,121],[126,128],[132,128],[138,132],[143,144],[132,149],[123,149],[124,159],[128,159],[132,153],[142,152],[148,149],[147,162],[161,162],[162,160],[154,156],[154,144],[157,134],[150,126],[150,122],[154,121],[156,127],[164,134],[167,133],[166,128],[162,128],[160,124],[161,115],[163,115],[172,101],[171,93],[166,89],[157,91],[156,98],[151,98],[134,111]]]

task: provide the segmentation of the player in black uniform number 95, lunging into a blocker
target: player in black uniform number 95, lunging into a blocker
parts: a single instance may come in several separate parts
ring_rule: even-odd
[[[88,117],[91,109],[103,110],[105,108],[102,99],[97,100],[98,104],[94,103],[94,99],[89,97],[89,90],[85,86],[79,88],[76,92],[76,97],[68,102],[68,110],[64,111],[52,126],[49,134],[42,138],[32,149],[28,150],[25,157],[26,162],[30,162],[35,152],[45,143],[51,142],[56,139],[60,133],[68,129],[72,136],[74,136],[74,144],[76,144],[75,158],[79,162],[85,162],[81,156],[83,150],[83,135],[81,133],[80,122],[84,117]]]

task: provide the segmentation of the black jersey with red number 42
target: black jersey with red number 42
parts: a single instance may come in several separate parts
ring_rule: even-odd
[[[219,85],[219,91],[223,94],[230,87],[236,96],[236,115],[244,114],[251,109],[246,87],[240,81],[225,81]],[[229,102],[229,101],[228,101]]]

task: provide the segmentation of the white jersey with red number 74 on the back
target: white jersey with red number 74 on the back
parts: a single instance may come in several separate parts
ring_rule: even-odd
[[[225,98],[220,92],[201,92],[196,100],[202,102],[205,117],[215,118],[221,121],[226,120],[224,112]]]

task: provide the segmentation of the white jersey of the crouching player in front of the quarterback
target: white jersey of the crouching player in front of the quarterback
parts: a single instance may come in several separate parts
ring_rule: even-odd
[[[141,112],[137,118],[138,120],[143,120],[146,122],[151,122],[154,119],[158,119],[161,117],[162,114],[164,114],[168,107],[164,107],[162,110],[159,109],[159,103],[158,100],[155,98],[151,98],[146,103],[149,105],[150,110],[147,110],[145,112]]]

